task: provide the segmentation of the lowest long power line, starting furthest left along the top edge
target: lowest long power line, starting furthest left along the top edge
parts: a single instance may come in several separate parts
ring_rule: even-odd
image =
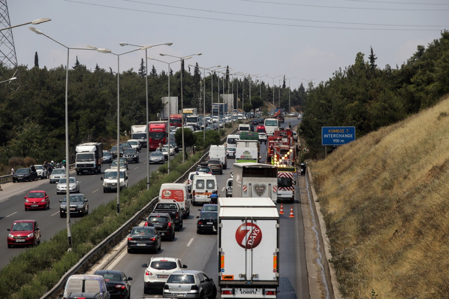
[[[64,0],[67,2],[74,2],[92,6],[100,6],[100,7],[108,7],[122,10],[130,10],[130,11],[139,11],[139,12],[147,12],[153,14],[162,14],[162,15],[172,15],[172,16],[182,16],[189,18],[197,18],[197,19],[206,19],[206,20],[217,20],[217,21],[227,21],[227,22],[235,22],[235,23],[247,23],[247,24],[262,24],[262,25],[274,25],[274,26],[287,26],[287,27],[303,27],[303,28],[326,28],[326,29],[348,29],[348,30],[382,30],[382,31],[441,31],[440,29],[396,29],[396,28],[350,28],[350,27],[329,27],[329,26],[311,26],[311,25],[292,25],[292,24],[278,24],[278,23],[267,23],[267,22],[254,22],[254,21],[241,21],[241,20],[230,20],[230,19],[222,19],[222,18],[213,18],[213,17],[204,17],[204,16],[193,16],[193,15],[185,15],[185,14],[175,14],[175,13],[166,13],[166,12],[156,12],[142,9],[133,9],[133,8],[125,8],[125,7],[117,7],[111,5],[103,5],[103,4],[94,4],[94,3],[86,3],[75,0]]]

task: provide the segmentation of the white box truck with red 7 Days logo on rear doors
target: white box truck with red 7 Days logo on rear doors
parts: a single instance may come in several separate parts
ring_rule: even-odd
[[[219,208],[221,298],[276,298],[279,286],[279,214],[273,204],[228,198]],[[264,199],[267,202],[266,199]]]

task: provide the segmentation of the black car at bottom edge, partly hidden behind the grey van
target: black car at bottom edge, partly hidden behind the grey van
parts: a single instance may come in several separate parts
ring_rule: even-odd
[[[126,277],[125,273],[119,270],[97,270],[94,275],[101,275],[108,288],[110,298],[130,298],[132,277]]]

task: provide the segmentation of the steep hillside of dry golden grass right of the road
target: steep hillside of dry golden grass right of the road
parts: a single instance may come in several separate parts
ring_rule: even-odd
[[[310,166],[345,298],[449,298],[449,97]]]

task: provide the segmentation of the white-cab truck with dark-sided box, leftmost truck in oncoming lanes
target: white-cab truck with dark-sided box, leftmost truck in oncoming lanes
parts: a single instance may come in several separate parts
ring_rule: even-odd
[[[86,172],[101,173],[103,163],[103,144],[85,143],[75,147],[75,170],[80,175]]]

